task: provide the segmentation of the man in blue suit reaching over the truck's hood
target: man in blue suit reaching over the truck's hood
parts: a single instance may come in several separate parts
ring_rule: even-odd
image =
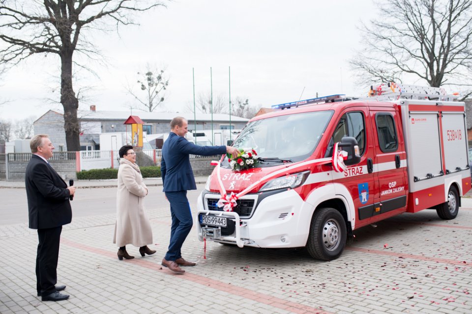
[[[180,253],[185,238],[192,229],[192,213],[187,200],[187,190],[196,190],[195,178],[190,165],[189,155],[212,156],[230,153],[234,157],[239,153],[231,146],[197,146],[184,137],[188,123],[182,117],[171,121],[169,138],[162,147],[161,175],[166,198],[171,203],[171,240],[162,265],[176,273],[184,273],[179,266],[194,266],[194,262],[185,261]]]

